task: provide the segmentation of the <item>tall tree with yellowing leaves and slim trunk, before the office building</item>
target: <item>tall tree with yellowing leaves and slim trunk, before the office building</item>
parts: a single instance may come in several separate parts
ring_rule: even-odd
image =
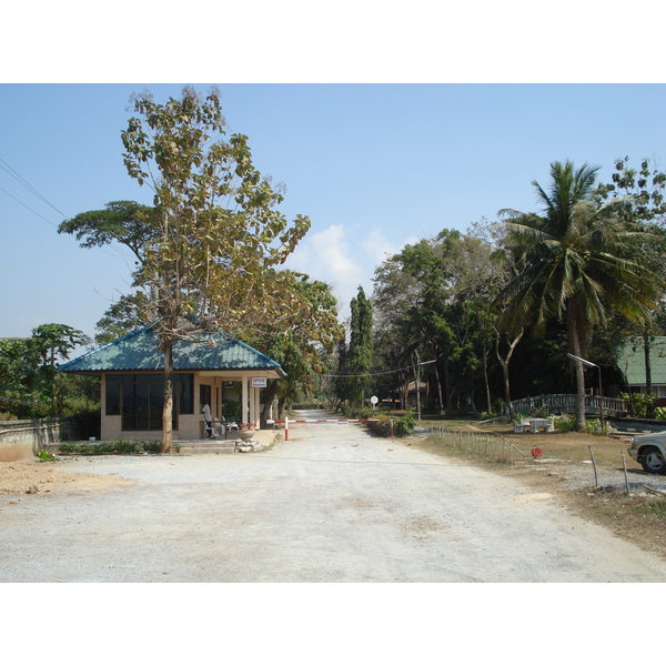
[[[173,343],[205,330],[235,334],[297,319],[307,304],[293,275],[278,269],[310,220],[290,223],[275,210],[283,195],[254,168],[248,138],[226,139],[216,89],[202,97],[184,88],[181,99],[163,104],[150,93],[132,101],[123,159],[128,173],[152,190],[152,206],[115,202],[62,231],[81,234],[85,246],[119,241],[137,256],[138,313],[154,322],[164,353],[162,451],[169,452]]]

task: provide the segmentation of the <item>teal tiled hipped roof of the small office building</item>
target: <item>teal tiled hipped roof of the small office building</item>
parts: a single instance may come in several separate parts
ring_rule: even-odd
[[[199,332],[192,337],[174,342],[174,370],[255,370],[285,376],[278,362],[224,333]],[[84,374],[163,369],[164,355],[158,349],[158,337],[151,326],[133,331],[59,367],[61,372]]]

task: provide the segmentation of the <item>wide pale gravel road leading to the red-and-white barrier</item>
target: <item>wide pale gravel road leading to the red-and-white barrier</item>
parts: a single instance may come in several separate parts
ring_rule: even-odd
[[[353,424],[62,468],[132,483],[3,504],[0,582],[666,582],[662,559],[551,496]]]

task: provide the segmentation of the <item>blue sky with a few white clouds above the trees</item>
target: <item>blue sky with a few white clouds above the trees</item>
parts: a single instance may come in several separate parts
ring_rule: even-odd
[[[312,221],[289,265],[332,283],[343,310],[405,243],[533,210],[531,183],[547,183],[554,160],[598,164],[603,180],[624,155],[666,168],[663,84],[219,88],[229,131],[285,183],[281,210]],[[0,84],[0,336],[51,322],[92,335],[128,290],[127,252],[82,250],[56,228],[109,201],[150,203],[120,141],[130,95],[144,89],[165,101],[182,84]]]

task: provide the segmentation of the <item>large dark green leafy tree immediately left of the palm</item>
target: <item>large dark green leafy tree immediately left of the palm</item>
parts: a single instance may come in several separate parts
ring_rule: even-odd
[[[491,402],[486,357],[497,270],[491,243],[475,229],[443,230],[406,245],[375,271],[377,349],[395,376],[397,369],[436,360],[424,366],[424,376],[441,407],[452,408],[456,397],[474,406],[482,381]],[[408,377],[403,380],[406,386]]]

